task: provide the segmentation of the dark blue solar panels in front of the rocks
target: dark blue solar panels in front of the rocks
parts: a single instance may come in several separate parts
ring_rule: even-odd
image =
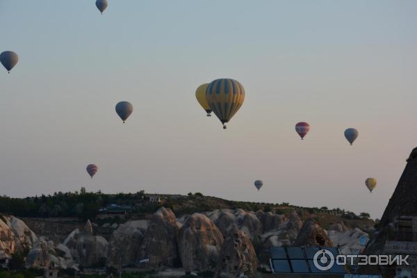
[[[329,270],[319,270],[313,257],[319,250],[328,250],[334,257],[339,254],[336,247],[271,247],[271,266],[275,273],[346,273],[343,265],[334,263]]]

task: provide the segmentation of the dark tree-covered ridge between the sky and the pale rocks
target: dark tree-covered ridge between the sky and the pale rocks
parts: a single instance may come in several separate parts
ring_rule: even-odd
[[[153,202],[154,197],[160,202]],[[104,194],[101,192],[86,192],[81,188],[80,192],[54,193],[54,195],[42,195],[26,198],[10,198],[0,196],[0,213],[15,215],[18,218],[36,221],[35,218],[65,218],[65,219],[95,219],[101,215],[103,208],[117,204],[128,212],[131,219],[143,219],[149,213],[154,213],[158,208],[164,206],[170,208],[177,217],[193,213],[204,213],[215,209],[243,209],[245,211],[275,211],[279,214],[288,214],[297,211],[301,218],[314,217],[315,214],[328,215],[329,218],[345,218],[346,220],[361,220],[368,218],[368,213],[355,215],[350,211],[340,208],[328,209],[306,208],[294,206],[288,203],[273,204],[263,202],[238,202],[218,197],[204,196],[201,193],[188,193],[188,195],[149,195],[143,191],[138,193]],[[320,220],[324,218],[320,218]],[[329,222],[334,222],[330,220]],[[42,223],[38,223],[42,226]],[[59,229],[60,232],[70,227]],[[325,224],[325,223],[322,223]],[[49,226],[50,223],[47,225]],[[59,227],[56,228],[56,230]]]

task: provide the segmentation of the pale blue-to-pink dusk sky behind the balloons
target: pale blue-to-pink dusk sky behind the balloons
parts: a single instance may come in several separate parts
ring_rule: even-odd
[[[0,194],[191,191],[380,217],[417,146],[416,14],[411,0],[109,0],[104,15],[0,0],[0,52],[19,54],[0,70]],[[246,91],[226,131],[195,99],[218,78]]]

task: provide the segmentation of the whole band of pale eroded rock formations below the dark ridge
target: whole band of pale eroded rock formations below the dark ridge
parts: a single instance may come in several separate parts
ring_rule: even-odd
[[[306,215],[303,215],[305,218]],[[88,220],[57,242],[48,235],[35,236],[21,220],[7,216],[0,222],[0,260],[16,252],[26,255],[27,268],[122,267],[213,272],[218,277],[253,277],[268,269],[268,248],[291,245],[338,246],[357,254],[368,241],[366,231],[354,222],[332,223],[324,229],[317,215],[304,220],[297,211],[245,211],[225,208],[180,217],[170,208],[159,208],[144,220],[115,224],[106,240],[97,234],[97,223]],[[357,220],[355,220],[357,221]],[[366,223],[368,226],[366,226]],[[330,224],[327,222],[327,224]],[[361,225],[372,229],[373,223]],[[25,253],[26,250],[26,253]]]

